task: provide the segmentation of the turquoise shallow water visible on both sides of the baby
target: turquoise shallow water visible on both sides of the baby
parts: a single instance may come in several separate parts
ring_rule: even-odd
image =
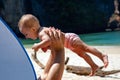
[[[89,45],[120,46],[120,31],[80,34],[80,38]],[[31,48],[39,40],[20,39],[26,48]]]

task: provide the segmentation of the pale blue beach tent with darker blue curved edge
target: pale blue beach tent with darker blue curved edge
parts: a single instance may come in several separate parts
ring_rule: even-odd
[[[0,18],[0,80],[37,80],[25,48],[2,18]]]

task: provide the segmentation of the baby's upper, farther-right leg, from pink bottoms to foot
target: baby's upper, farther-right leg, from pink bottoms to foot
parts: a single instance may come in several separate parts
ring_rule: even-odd
[[[85,44],[81,39],[76,39],[72,46],[76,49],[81,49],[84,52],[89,52],[93,54],[94,56],[97,56],[102,62],[104,63],[104,67],[107,67],[109,62],[108,62],[108,56],[105,54],[102,54],[100,51],[98,51],[96,48],[88,46]]]

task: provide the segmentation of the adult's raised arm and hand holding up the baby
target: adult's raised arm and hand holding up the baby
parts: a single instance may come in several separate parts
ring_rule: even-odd
[[[64,36],[60,31],[49,31],[51,37],[51,54],[44,69],[45,80],[61,80],[64,71]],[[42,77],[42,78],[43,78]]]

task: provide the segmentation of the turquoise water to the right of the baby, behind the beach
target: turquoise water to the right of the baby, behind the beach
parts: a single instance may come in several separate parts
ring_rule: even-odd
[[[120,45],[120,31],[80,34],[89,45]]]

